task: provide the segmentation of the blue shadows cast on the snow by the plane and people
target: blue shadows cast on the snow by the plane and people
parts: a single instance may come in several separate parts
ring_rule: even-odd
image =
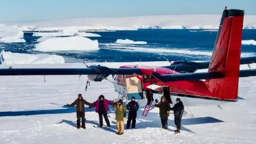
[[[52,115],[52,114],[66,114],[66,113],[73,113],[75,112],[75,107],[67,107],[67,106],[61,106],[62,109],[51,109],[51,110],[24,110],[24,111],[8,111],[8,112],[0,112],[0,117],[16,117],[16,116],[30,116],[30,115]],[[85,108],[86,112],[93,112],[95,111],[95,108]],[[110,107],[110,113],[115,113],[114,109]],[[160,117],[157,113],[151,113],[149,117],[143,117],[142,110],[138,111],[138,117],[137,117],[137,128],[161,128],[161,121]],[[97,115],[97,114],[95,114]],[[156,122],[159,121],[159,122]],[[111,121],[113,125],[116,125],[115,121]],[[185,118],[182,119],[182,128],[181,130],[185,130],[187,132],[195,133],[188,128],[185,128],[183,125],[197,125],[197,124],[205,124],[205,123],[220,123],[224,122],[220,119],[216,119],[214,117],[191,117],[191,118]],[[69,121],[62,119],[59,123],[67,123],[73,127],[76,127],[75,121]],[[99,125],[98,121],[89,121],[86,120],[86,123],[91,123],[93,125]],[[176,128],[176,125],[174,124],[174,120],[168,120],[168,125],[172,126],[173,128]],[[109,131],[109,132],[115,132],[113,128],[103,127],[102,129]],[[171,130],[171,129],[169,129]]]

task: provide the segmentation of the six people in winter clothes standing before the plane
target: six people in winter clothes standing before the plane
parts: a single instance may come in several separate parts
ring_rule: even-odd
[[[89,106],[89,108],[95,107],[95,112],[98,113],[100,119],[100,128],[103,126],[103,117],[106,121],[106,125],[110,127],[110,121],[108,120],[108,105],[113,106],[115,108],[115,119],[117,121],[117,133],[116,134],[124,134],[124,121],[126,121],[126,111],[128,110],[128,121],[126,124],[126,129],[130,128],[130,124],[132,123],[132,128],[135,128],[136,118],[137,118],[137,110],[139,110],[139,104],[135,101],[135,97],[132,97],[131,101],[126,105],[124,104],[122,99],[114,99],[114,101],[109,101],[105,99],[104,95],[100,95],[97,101],[93,103],[89,103],[84,100],[82,94],[78,95],[78,99],[75,99],[72,104],[67,104],[67,106],[75,106],[76,105],[76,117],[77,117],[77,128],[81,128],[81,120],[82,120],[82,128],[85,127],[85,115],[84,115],[84,105]],[[161,97],[161,101],[154,106],[159,108],[159,115],[161,117],[162,128],[167,130],[167,120],[170,115],[170,110],[174,110],[174,121],[177,125],[177,130],[175,132],[180,132],[181,130],[181,117],[183,115],[184,106],[181,99],[176,99],[176,104],[173,108],[170,107],[170,104],[165,100],[165,97]]]

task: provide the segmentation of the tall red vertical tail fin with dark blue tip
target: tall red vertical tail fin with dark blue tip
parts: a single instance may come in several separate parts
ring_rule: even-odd
[[[237,99],[240,75],[243,10],[224,10],[209,72],[224,73],[225,78],[206,80],[212,97]]]

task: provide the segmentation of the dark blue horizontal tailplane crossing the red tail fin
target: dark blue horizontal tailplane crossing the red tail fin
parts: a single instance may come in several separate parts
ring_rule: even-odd
[[[206,80],[224,78],[225,75],[219,72],[204,72],[204,73],[178,73],[160,75],[159,73],[152,73],[156,79],[162,82],[176,82],[183,80]],[[240,77],[256,76],[256,69],[240,70]]]

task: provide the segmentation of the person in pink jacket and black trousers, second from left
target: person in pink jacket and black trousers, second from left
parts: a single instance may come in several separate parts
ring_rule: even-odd
[[[113,103],[111,101],[108,101],[108,99],[105,99],[104,95],[100,95],[99,99],[93,103],[93,106],[91,108],[96,107],[95,112],[99,114],[99,119],[100,119],[100,128],[102,128],[103,125],[103,119],[102,116],[104,117],[106,121],[106,125],[110,127],[110,122],[108,120],[108,105],[112,105]]]

